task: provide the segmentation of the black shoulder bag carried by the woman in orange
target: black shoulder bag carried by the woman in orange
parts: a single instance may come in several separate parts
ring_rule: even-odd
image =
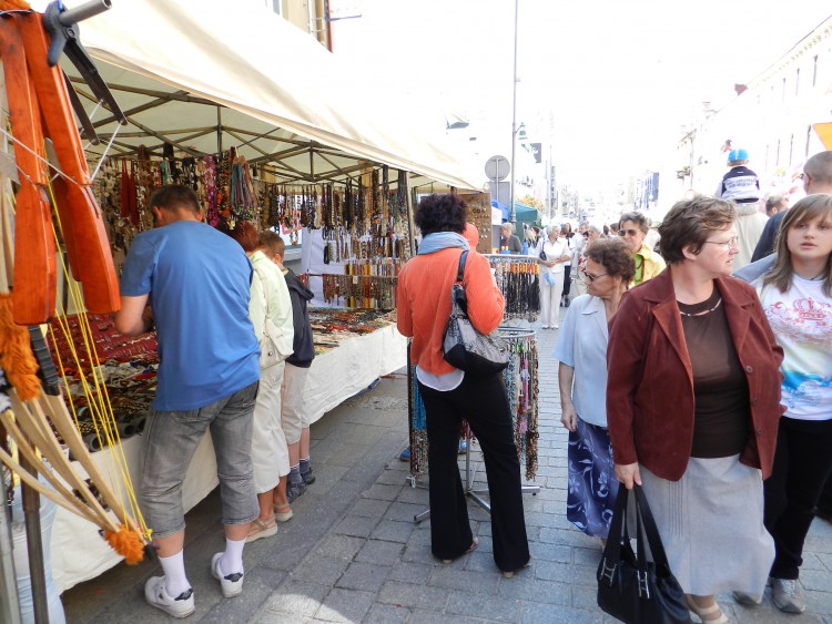
[[[508,366],[508,345],[496,329],[487,335],[480,334],[468,318],[468,300],[463,285],[467,257],[468,252],[459,256],[456,283],[450,287],[450,318],[442,338],[443,357],[469,375],[494,375]]]

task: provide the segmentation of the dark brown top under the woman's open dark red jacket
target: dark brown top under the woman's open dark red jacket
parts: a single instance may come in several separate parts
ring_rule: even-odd
[[[740,454],[749,442],[748,382],[714,287],[704,301],[677,301],[693,370],[693,446],[690,457]]]

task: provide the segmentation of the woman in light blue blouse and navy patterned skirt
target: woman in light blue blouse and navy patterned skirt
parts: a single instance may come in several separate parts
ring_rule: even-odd
[[[597,241],[581,272],[587,294],[576,297],[555,346],[560,422],[569,430],[566,516],[592,538],[607,539],[618,481],[607,431],[607,326],[636,273],[629,247]]]

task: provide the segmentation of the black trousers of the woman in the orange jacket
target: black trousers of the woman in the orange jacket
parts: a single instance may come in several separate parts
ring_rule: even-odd
[[[438,559],[456,559],[474,540],[457,463],[465,418],[485,458],[494,561],[504,572],[519,570],[529,561],[529,544],[520,491],[520,460],[501,377],[466,375],[454,390],[440,392],[419,383],[419,392],[427,422],[430,551]]]

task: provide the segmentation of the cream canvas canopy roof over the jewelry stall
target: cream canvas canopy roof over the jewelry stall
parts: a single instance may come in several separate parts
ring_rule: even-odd
[[[419,103],[397,96],[406,75],[347,67],[263,6],[122,1],[82,22],[80,39],[130,120],[115,154],[140,144],[160,153],[164,142],[193,154],[235,146],[286,180],[343,180],[372,162],[479,186],[454,155],[425,140]],[[74,70],[68,73],[89,93]],[[102,139],[93,151],[101,153],[116,124],[101,111],[93,122]]]

